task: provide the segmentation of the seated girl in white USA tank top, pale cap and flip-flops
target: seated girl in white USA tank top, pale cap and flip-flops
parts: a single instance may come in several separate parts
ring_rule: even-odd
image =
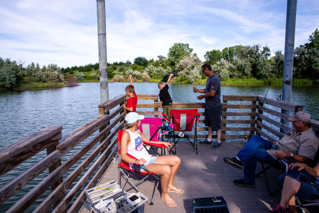
[[[143,141],[163,144],[167,148],[171,148],[172,145],[163,141],[149,141],[145,138],[137,128],[141,125],[141,119],[144,119],[144,116],[138,115],[136,112],[130,112],[125,116],[125,131],[121,138],[122,160],[129,163],[131,168],[133,168],[134,165],[141,165],[139,167],[141,172],[144,171],[144,167],[142,166],[144,165],[147,170],[156,175],[161,175],[161,200],[165,202],[167,206],[175,207],[177,203],[170,197],[168,192],[184,193],[184,190],[173,185],[181,159],[178,156],[151,156],[144,148]],[[137,159],[129,157],[127,153]]]

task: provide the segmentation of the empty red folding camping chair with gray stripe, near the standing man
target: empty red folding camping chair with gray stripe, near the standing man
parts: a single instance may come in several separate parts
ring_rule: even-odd
[[[174,130],[173,131],[174,145],[170,151],[172,151],[173,154],[176,154],[176,146],[175,145],[179,141],[179,139],[185,135],[185,132],[195,132],[193,142],[190,141],[189,137],[187,137],[186,135],[185,135],[185,138],[189,141],[189,143],[196,150],[196,154],[198,154],[198,151],[197,151],[197,122],[200,119],[200,113],[197,113],[197,109],[183,109],[183,110],[171,109],[170,110],[170,120],[166,114],[162,113],[162,116],[165,120],[170,121],[172,124],[174,124],[174,128],[173,128],[173,130]],[[194,123],[195,123],[195,128],[194,128]],[[181,132],[178,134],[177,141],[175,141],[175,131]],[[173,151],[174,147],[175,147],[175,152]]]

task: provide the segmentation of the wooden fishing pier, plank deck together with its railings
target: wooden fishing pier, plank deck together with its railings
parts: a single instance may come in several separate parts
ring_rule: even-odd
[[[160,117],[161,103],[158,95],[137,95],[137,113],[145,117]],[[62,135],[61,126],[48,126],[21,140],[0,149],[0,176],[19,167],[32,157],[46,155],[33,166],[25,168],[14,179],[0,188],[0,208],[11,196],[26,186],[42,172],[48,174],[33,189],[22,196],[7,212],[90,212],[83,209],[85,190],[110,180],[118,181],[117,131],[124,127],[125,111],[122,104],[126,95],[119,95],[97,106],[98,116],[74,131]],[[142,103],[141,103],[142,101]],[[198,155],[187,141],[176,145],[181,166],[175,178],[175,185],[184,189],[184,194],[171,196],[177,207],[167,207],[159,197],[160,187],[155,194],[154,205],[145,203],[145,212],[192,212],[192,198],[223,196],[230,212],[266,212],[280,201],[280,192],[271,197],[263,177],[256,179],[256,188],[239,187],[234,179],[243,176],[243,171],[223,162],[223,157],[233,157],[246,143],[244,135],[261,135],[270,141],[281,138],[291,127],[282,124],[281,119],[289,117],[281,113],[302,111],[303,106],[296,103],[277,101],[261,95],[223,95],[222,146],[211,149],[208,145],[198,145]],[[173,108],[193,109],[204,115],[204,103],[173,102]],[[319,122],[311,120],[312,128],[319,130]],[[282,131],[280,131],[282,130]],[[194,135],[190,134],[192,138]],[[197,138],[207,137],[204,116],[197,124]],[[216,135],[213,135],[216,138]],[[242,147],[241,146],[241,147]],[[71,150],[75,150],[70,154]],[[44,151],[45,152],[45,151]],[[260,171],[261,164],[256,171]],[[269,175],[268,175],[269,174]],[[267,172],[272,190],[277,188],[276,178],[280,171]],[[140,190],[149,198],[153,190],[152,181],[146,180]],[[125,188],[124,188],[125,190]],[[131,190],[135,192],[135,190]],[[45,194],[43,198],[43,194]],[[34,209],[29,209],[33,203]]]

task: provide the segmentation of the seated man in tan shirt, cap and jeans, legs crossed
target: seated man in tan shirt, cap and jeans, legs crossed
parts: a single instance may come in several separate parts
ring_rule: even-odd
[[[307,112],[297,112],[288,118],[293,121],[293,129],[273,146],[262,137],[255,135],[233,158],[224,157],[226,164],[241,169],[244,166],[244,178],[234,180],[237,186],[255,187],[257,161],[271,163],[278,158],[288,157],[300,163],[313,160],[319,146],[319,140],[311,128]],[[274,147],[275,146],[275,147]]]

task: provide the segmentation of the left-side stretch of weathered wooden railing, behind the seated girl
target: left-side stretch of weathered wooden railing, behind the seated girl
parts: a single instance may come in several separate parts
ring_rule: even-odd
[[[47,156],[0,188],[0,204],[3,204],[27,183],[49,168],[48,176],[16,202],[8,212],[26,211],[50,187],[52,192],[33,212],[47,212],[51,206],[54,207],[53,212],[66,212],[67,208],[69,208],[68,212],[76,212],[85,198],[85,190],[94,186],[116,154],[116,148],[114,149],[116,145],[115,135],[124,126],[125,112],[122,103],[124,103],[125,98],[125,95],[119,95],[101,104],[98,117],[63,137],[62,126],[48,126],[1,148],[0,176],[45,148],[47,148]],[[101,113],[105,110],[107,112],[113,110],[113,112],[107,115]],[[113,131],[111,131],[112,129]],[[84,146],[78,147],[78,144],[97,130],[100,130],[100,132],[93,139]],[[99,141],[100,144],[93,148]],[[61,158],[74,148],[76,148],[76,152],[61,163]],[[84,160],[81,159],[83,156],[86,156]],[[73,166],[80,159],[81,162],[78,166]],[[68,189],[91,163],[93,164],[76,184]],[[63,174],[67,171],[69,175],[63,179]],[[82,190],[83,187],[84,190]],[[81,192],[80,195],[69,207],[71,201],[79,192]]]

